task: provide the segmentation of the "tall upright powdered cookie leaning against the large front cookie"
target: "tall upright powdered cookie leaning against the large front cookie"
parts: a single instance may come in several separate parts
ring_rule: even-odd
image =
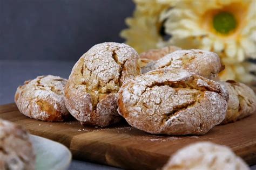
[[[104,42],[75,64],[65,87],[65,104],[82,125],[108,126],[120,121],[117,92],[140,74],[139,55],[130,46]]]

